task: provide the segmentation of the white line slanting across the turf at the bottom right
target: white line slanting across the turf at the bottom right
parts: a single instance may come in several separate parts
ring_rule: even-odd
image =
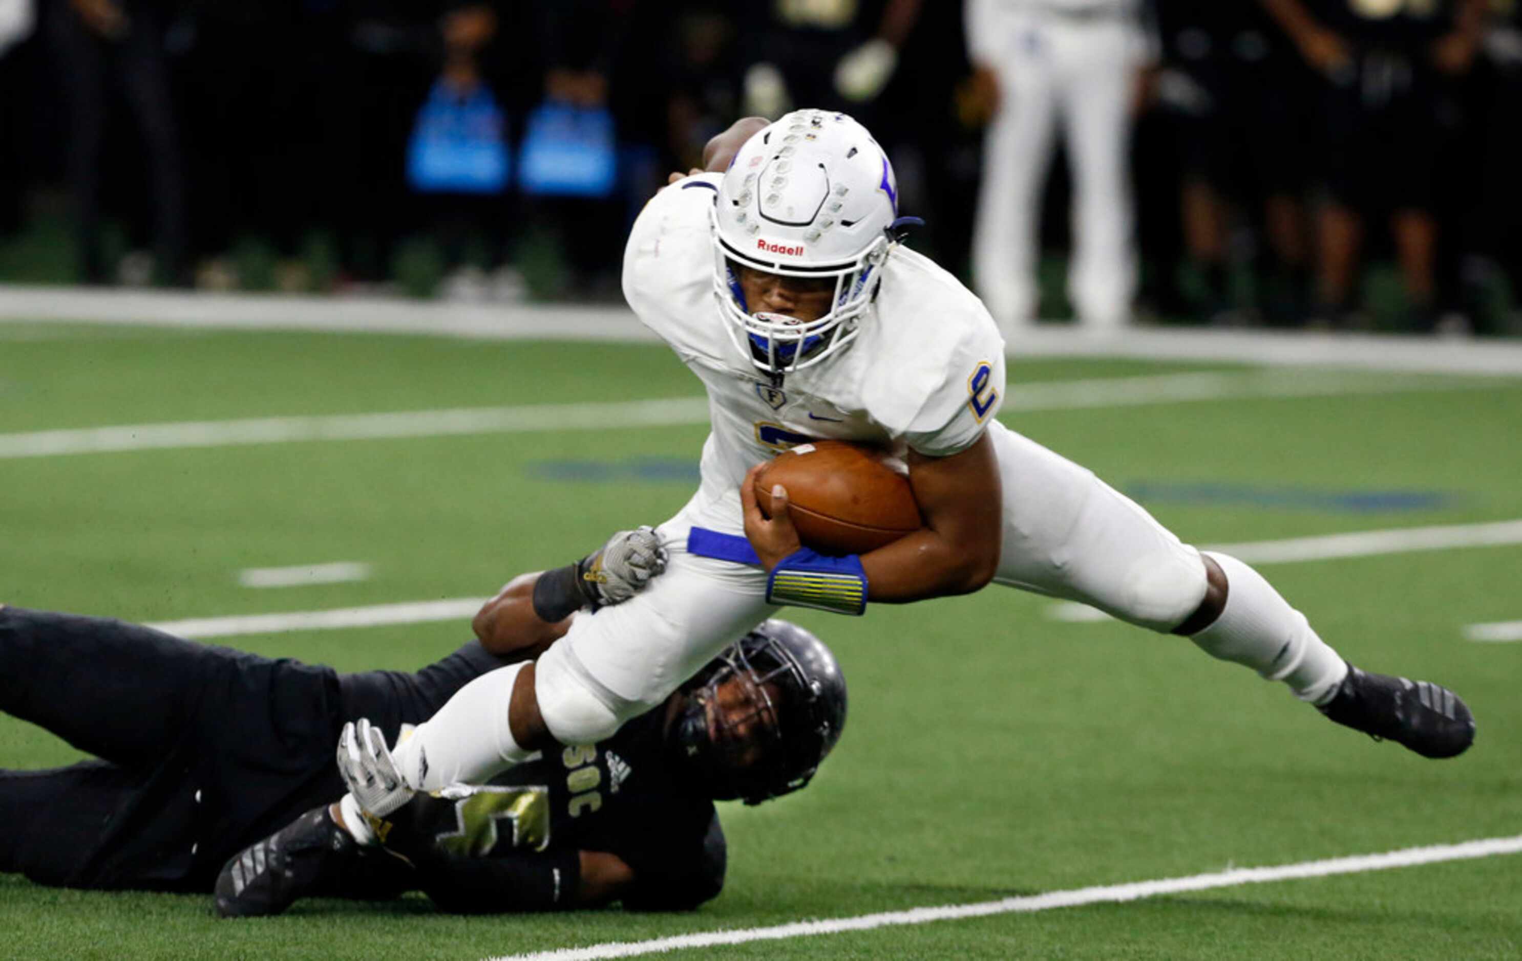
[[[1484,838],[1461,844],[1435,844],[1431,847],[1408,847],[1383,855],[1355,855],[1352,858],[1329,858],[1326,861],[1303,861],[1266,868],[1228,868],[1212,874],[1189,877],[1164,877],[1138,880],[1123,885],[1076,888],[1071,891],[1049,891],[1024,897],[1006,897],[970,905],[945,905],[939,908],[910,908],[909,911],[886,911],[817,921],[793,921],[772,928],[744,928],[738,931],[712,931],[685,934],[648,941],[612,941],[589,947],[562,947],[522,955],[499,955],[490,961],[594,961],[601,958],[633,958],[691,947],[717,947],[721,944],[747,944],[750,941],[781,941],[845,931],[874,931],[904,925],[927,925],[930,921],[954,921],[989,917],[995,914],[1029,914],[1055,908],[1078,908],[1082,905],[1125,903],[1163,894],[1187,891],[1212,891],[1240,885],[1271,883],[1277,880],[1300,880],[1306,877],[1332,877],[1336,874],[1361,874],[1365,871],[1388,871],[1444,861],[1469,861],[1495,858],[1522,852],[1522,835],[1513,838]]]

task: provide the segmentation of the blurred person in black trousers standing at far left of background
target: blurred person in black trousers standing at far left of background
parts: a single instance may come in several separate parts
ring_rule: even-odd
[[[186,275],[186,181],[174,117],[164,29],[167,0],[52,0],[49,35],[68,105],[68,181],[85,283],[105,283],[100,193],[107,122],[120,90],[142,135],[158,278]]]

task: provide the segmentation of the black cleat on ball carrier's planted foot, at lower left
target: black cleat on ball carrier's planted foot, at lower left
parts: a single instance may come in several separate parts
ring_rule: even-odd
[[[349,832],[333,821],[327,804],[314,807],[233,855],[216,876],[216,914],[280,914],[298,897],[330,888],[358,850]]]

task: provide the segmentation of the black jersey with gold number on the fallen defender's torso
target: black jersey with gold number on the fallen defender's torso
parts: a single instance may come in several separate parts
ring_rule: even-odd
[[[419,865],[417,886],[467,909],[563,906],[554,873],[568,867],[563,855],[581,850],[633,868],[626,906],[694,908],[723,885],[724,836],[714,803],[673,768],[664,728],[658,709],[607,741],[549,751],[486,786],[423,795],[396,818],[387,847]],[[461,880],[513,891],[460,891]],[[531,891],[542,896],[525,900]]]

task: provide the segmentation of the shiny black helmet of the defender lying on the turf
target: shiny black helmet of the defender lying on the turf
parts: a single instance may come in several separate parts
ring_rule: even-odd
[[[691,681],[671,739],[709,797],[746,804],[798,791],[846,724],[846,681],[822,640],[767,620]]]

